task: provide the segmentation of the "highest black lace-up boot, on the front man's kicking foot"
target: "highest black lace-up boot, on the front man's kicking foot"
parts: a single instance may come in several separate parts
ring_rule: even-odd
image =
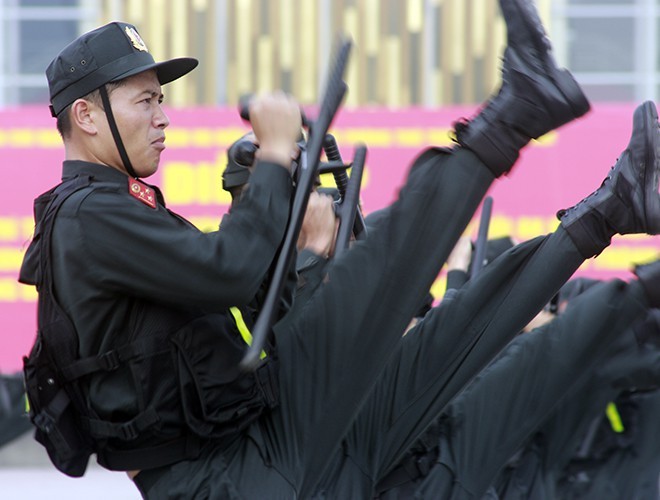
[[[500,0],[507,26],[502,85],[470,121],[455,124],[456,142],[495,176],[507,173],[531,139],[582,116],[589,101],[573,76],[559,69],[531,0]]]

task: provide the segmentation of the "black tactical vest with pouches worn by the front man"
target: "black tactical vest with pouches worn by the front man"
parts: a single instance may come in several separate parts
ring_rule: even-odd
[[[229,312],[136,299],[128,335],[118,336],[130,341],[80,358],[51,269],[55,216],[80,189],[93,189],[89,177],[67,180],[35,200],[35,234],[20,272],[19,280],[39,292],[37,338],[24,358],[35,438],[71,476],[84,474],[92,453],[111,470],[148,469],[196,457],[204,440],[233,441],[277,405],[278,391],[274,351],[257,371],[239,369],[246,341]],[[250,314],[243,317],[249,327]]]

